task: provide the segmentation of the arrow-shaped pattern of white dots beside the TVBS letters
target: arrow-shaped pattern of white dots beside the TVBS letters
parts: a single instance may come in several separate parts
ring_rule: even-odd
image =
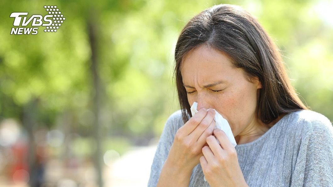
[[[61,26],[60,23],[63,23],[66,18],[64,17],[63,14],[61,14],[61,12],[59,11],[59,8],[57,8],[57,6],[44,6],[44,8],[46,9],[46,12],[48,12],[49,15],[52,15],[53,18],[53,23],[46,27],[46,29],[44,29],[44,32],[57,32],[57,30],[59,29],[59,27]],[[54,27],[56,26],[56,27]]]

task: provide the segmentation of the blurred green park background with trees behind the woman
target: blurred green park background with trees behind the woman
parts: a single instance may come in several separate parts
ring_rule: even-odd
[[[332,121],[332,1],[2,0],[0,186],[147,186],[166,119],[179,109],[177,37],[221,3],[258,18],[301,99]],[[66,18],[57,32],[10,35],[12,12],[44,16],[45,5]]]

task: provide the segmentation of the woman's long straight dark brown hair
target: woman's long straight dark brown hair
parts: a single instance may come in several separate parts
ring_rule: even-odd
[[[279,49],[256,18],[239,6],[221,4],[194,16],[176,44],[173,76],[184,123],[191,112],[180,73],[181,61],[190,50],[203,44],[228,55],[233,68],[241,68],[249,82],[259,79],[262,88],[257,115],[263,123],[269,124],[283,113],[309,110],[290,84]]]

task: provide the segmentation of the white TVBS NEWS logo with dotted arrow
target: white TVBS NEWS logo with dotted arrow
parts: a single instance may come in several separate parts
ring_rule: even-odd
[[[66,19],[57,6],[44,6],[47,15],[32,15],[28,19],[28,12],[13,12],[10,17],[14,18],[13,28],[10,34],[37,34],[40,26],[46,26],[44,32],[57,32]],[[23,18],[23,20],[22,20]],[[31,27],[27,27],[31,23]]]

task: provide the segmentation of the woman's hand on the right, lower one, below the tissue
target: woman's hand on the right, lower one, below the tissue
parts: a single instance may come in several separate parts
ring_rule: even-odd
[[[202,148],[200,164],[203,174],[211,187],[247,186],[240,169],[236,149],[232,146],[225,132],[214,129],[213,135],[207,137],[209,146]]]

